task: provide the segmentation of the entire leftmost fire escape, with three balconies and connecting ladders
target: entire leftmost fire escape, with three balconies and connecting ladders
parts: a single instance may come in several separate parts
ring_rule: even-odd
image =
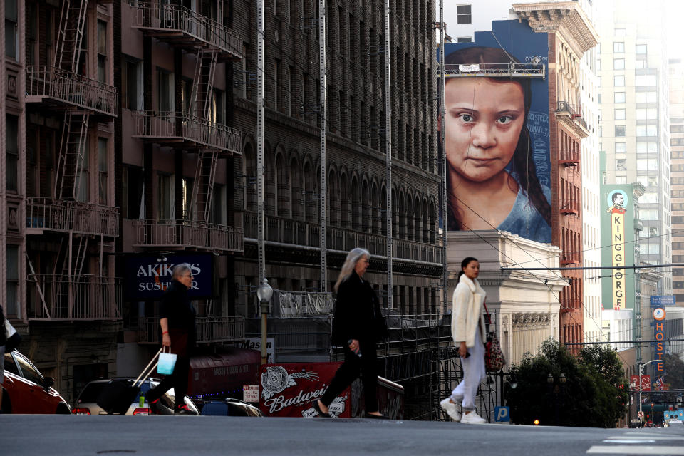
[[[53,64],[26,67],[27,107],[63,118],[52,197],[26,199],[26,234],[59,245],[54,258],[27,252],[29,319],[121,317],[120,281],[108,276],[103,264],[106,244],[119,235],[119,212],[89,202],[86,182],[89,128],[113,121],[118,94],[79,71],[87,66],[81,62],[87,14],[87,0],[64,0]],[[98,261],[90,261],[97,255]],[[36,271],[34,264],[42,267]]]

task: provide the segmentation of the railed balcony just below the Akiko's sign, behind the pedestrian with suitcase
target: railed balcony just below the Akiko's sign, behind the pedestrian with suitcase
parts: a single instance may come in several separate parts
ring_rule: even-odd
[[[138,343],[160,341],[159,318],[138,318]],[[239,316],[200,316],[195,318],[197,343],[244,340],[244,318]]]

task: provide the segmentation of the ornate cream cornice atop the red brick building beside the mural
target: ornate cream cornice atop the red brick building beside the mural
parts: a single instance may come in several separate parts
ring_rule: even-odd
[[[537,33],[561,33],[579,57],[598,44],[598,33],[576,1],[517,3],[513,11]]]

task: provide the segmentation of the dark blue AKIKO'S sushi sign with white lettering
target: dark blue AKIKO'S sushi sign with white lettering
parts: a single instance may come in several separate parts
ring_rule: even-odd
[[[162,261],[157,261],[161,259]],[[164,261],[165,260],[165,261]],[[173,268],[190,264],[190,298],[212,296],[212,255],[132,256],[126,259],[125,290],[128,299],[160,299],[171,284]]]

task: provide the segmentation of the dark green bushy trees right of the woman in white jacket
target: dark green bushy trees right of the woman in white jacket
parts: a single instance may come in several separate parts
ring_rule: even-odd
[[[526,353],[510,373],[517,387],[507,385],[505,393],[514,423],[613,427],[627,410],[628,388],[620,360],[606,348],[586,348],[575,358],[549,338],[537,356]]]

